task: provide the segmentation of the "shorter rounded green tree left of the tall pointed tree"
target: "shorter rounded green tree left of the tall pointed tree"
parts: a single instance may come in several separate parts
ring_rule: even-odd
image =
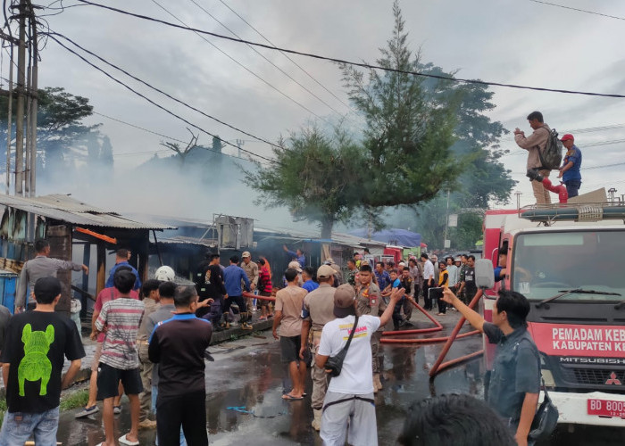
[[[354,217],[361,205],[362,150],[345,132],[333,136],[304,128],[274,148],[275,163],[245,170],[245,182],[259,192],[257,204],[286,206],[294,219],[318,222],[321,238],[329,238],[337,222]]]

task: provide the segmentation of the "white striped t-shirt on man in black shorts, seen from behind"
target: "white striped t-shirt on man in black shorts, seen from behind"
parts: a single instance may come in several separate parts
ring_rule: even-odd
[[[106,327],[100,362],[129,370],[139,367],[137,355],[137,332],[143,318],[143,301],[119,297],[107,301],[96,319],[96,328]]]

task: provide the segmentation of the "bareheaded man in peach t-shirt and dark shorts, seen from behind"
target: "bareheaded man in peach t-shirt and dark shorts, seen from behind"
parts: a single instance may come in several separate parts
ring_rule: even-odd
[[[291,392],[282,395],[284,400],[302,400],[304,398],[304,381],[306,364],[299,357],[302,344],[302,305],[308,293],[297,286],[297,271],[293,268],[284,273],[287,287],[276,293],[276,314],[273,319],[273,337],[280,341],[282,362],[288,364],[288,373],[293,382]],[[278,327],[280,335],[278,335]]]

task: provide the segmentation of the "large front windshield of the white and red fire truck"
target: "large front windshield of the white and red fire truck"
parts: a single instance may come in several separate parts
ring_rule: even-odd
[[[625,276],[625,230],[528,233],[513,244],[512,289],[530,301],[542,301],[578,288],[597,292],[568,293],[558,301],[622,301]]]

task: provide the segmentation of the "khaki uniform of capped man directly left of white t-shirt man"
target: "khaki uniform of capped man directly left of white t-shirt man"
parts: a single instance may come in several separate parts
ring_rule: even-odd
[[[312,361],[312,395],[311,406],[312,409],[321,410],[323,407],[323,399],[326,396],[328,390],[328,374],[323,368],[318,368],[314,357],[319,349],[319,343],[321,341],[321,330],[330,320],[336,319],[334,316],[334,292],[336,288],[333,288],[329,284],[321,284],[319,288],[313,290],[311,293],[306,294],[304,297],[304,310],[308,311],[309,316],[304,320],[311,321],[311,331],[308,337],[308,342],[311,347],[311,353],[313,355]]]

